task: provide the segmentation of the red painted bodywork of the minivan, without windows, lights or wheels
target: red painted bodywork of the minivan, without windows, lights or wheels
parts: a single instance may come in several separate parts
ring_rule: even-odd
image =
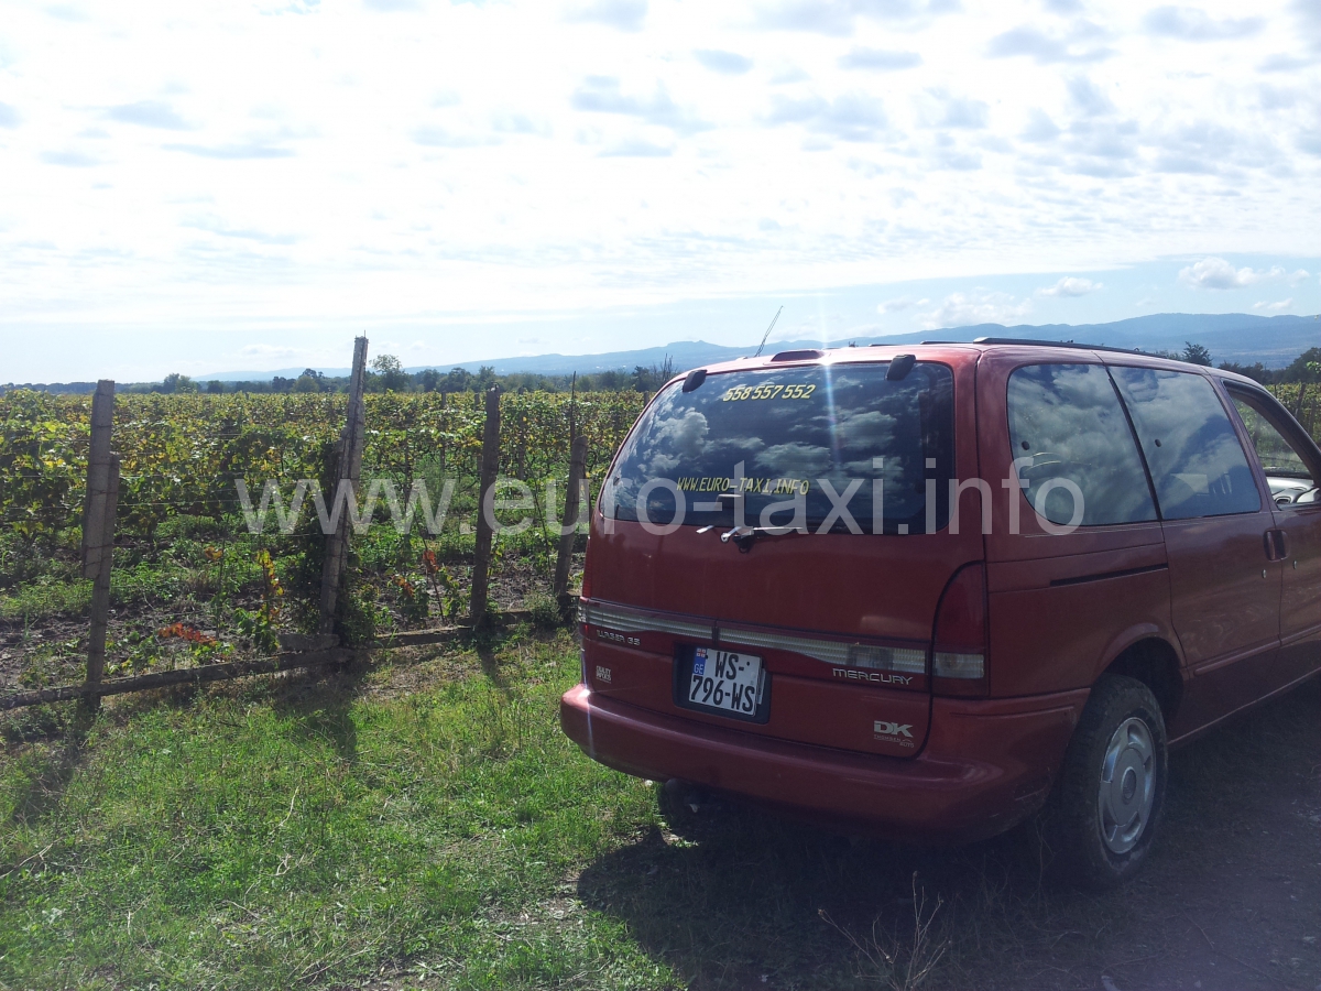
[[[596,507],[584,683],[561,703],[564,732],[584,752],[630,774],[682,778],[847,828],[972,839],[1041,806],[1091,686],[1136,643],[1170,658],[1172,739],[1318,670],[1321,506],[1285,514],[1291,554],[1267,560],[1263,535],[1284,523],[1272,515],[1255,459],[1262,510],[1235,517],[1061,535],[1012,488],[1007,388],[1015,369],[1189,366],[1009,345],[848,349],[823,361],[889,362],[904,353],[952,370],[955,472],[985,485],[964,486],[951,523],[935,534],[790,534],[764,538],[749,554],[721,543],[717,530],[660,535],[606,521]],[[758,367],[771,366],[746,359],[709,366],[708,375]],[[814,657],[766,646],[875,645],[930,657],[942,596],[970,564],[984,568],[985,580],[982,698],[943,698],[922,674],[878,680],[822,659],[835,657],[828,649]],[[593,609],[614,618],[593,622]],[[762,646],[740,647],[740,632]],[[676,702],[682,651],[727,645],[764,661],[764,723]],[[882,724],[906,735],[873,732]]]

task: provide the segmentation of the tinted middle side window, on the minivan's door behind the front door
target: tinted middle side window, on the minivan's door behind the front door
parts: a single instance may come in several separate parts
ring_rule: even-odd
[[[1166,519],[1255,513],[1262,497],[1215,387],[1188,371],[1112,367]]]

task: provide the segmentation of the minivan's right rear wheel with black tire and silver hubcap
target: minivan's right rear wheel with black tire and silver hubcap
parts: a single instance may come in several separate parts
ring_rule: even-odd
[[[1049,814],[1055,867],[1100,891],[1136,875],[1165,805],[1160,703],[1141,682],[1102,675],[1074,729]]]

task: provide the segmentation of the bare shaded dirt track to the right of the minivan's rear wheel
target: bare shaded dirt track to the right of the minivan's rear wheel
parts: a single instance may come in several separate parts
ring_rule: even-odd
[[[1321,682],[1172,756],[1151,868],[1095,937],[1122,991],[1321,988]]]

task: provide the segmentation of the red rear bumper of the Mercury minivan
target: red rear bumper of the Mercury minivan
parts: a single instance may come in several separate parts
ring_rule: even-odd
[[[1041,807],[1087,690],[1030,699],[934,699],[914,758],[789,743],[629,706],[579,684],[560,724],[606,766],[682,778],[790,814],[894,839],[970,842]]]

